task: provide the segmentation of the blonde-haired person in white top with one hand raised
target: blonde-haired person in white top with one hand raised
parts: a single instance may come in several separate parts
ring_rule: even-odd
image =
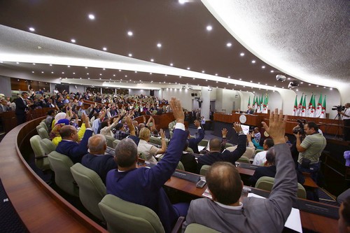
[[[151,131],[144,127],[140,130],[139,135],[139,145],[137,146],[137,150],[139,153],[142,153],[146,157],[146,160],[149,162],[157,162],[155,160],[155,155],[165,153],[165,150],[167,150],[167,143],[165,142],[165,132],[163,129],[160,129],[160,138],[162,141],[162,148],[157,148],[156,146],[153,146],[152,144],[148,143],[151,138]]]

